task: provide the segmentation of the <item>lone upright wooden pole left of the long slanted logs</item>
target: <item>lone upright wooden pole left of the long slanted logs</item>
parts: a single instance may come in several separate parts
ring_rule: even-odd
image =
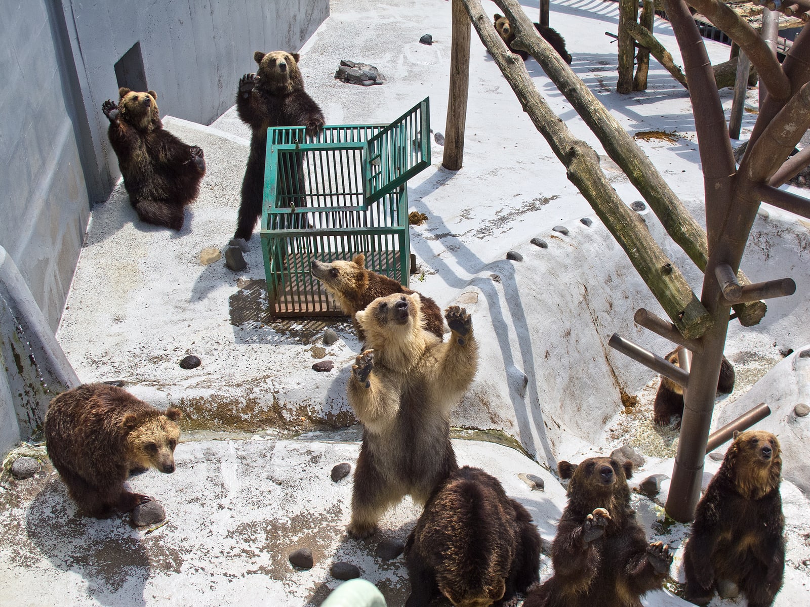
[[[453,0],[453,39],[450,43],[450,95],[447,100],[445,151],[441,166],[458,171],[464,159],[467,91],[470,85],[470,19],[462,0]]]

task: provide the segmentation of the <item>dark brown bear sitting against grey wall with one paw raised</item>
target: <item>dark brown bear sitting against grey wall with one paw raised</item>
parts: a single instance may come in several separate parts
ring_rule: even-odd
[[[130,204],[141,221],[179,230],[205,175],[203,150],[164,130],[155,91],[121,87],[118,96],[118,104],[106,100],[101,111]]]

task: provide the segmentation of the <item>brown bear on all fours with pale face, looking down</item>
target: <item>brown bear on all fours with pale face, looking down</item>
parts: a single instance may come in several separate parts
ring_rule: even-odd
[[[79,510],[102,518],[151,501],[124,489],[130,473],[174,472],[180,417],[175,407],[161,413],[122,388],[83,384],[51,401],[45,445]]]

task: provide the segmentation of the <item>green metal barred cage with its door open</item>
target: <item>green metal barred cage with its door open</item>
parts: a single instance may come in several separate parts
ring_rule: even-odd
[[[407,180],[430,164],[428,99],[390,125],[267,129],[262,240],[273,316],[341,316],[312,262],[351,260],[407,287]]]

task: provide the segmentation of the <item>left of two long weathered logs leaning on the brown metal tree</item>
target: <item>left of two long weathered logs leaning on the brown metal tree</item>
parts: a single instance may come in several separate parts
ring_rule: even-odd
[[[492,27],[492,20],[484,15],[480,0],[463,0],[463,3],[475,31],[518,96],[523,110],[544,136],[556,157],[565,165],[569,180],[577,186],[599,215],[599,219],[625,249],[638,274],[650,287],[655,299],[658,299],[680,333],[688,338],[699,337],[708,328],[706,308],[698,301],[680,270],[650,236],[641,216],[630,210],[610,185],[607,176],[599,168],[599,155],[586,142],[575,138],[565,123],[551,111],[532,83],[520,57],[506,52],[500,36]],[[511,15],[507,16],[511,23]],[[528,27],[534,29],[522,11],[520,16],[527,21]],[[565,62],[551,45],[546,43],[546,46],[548,53],[554,54],[565,66]]]

